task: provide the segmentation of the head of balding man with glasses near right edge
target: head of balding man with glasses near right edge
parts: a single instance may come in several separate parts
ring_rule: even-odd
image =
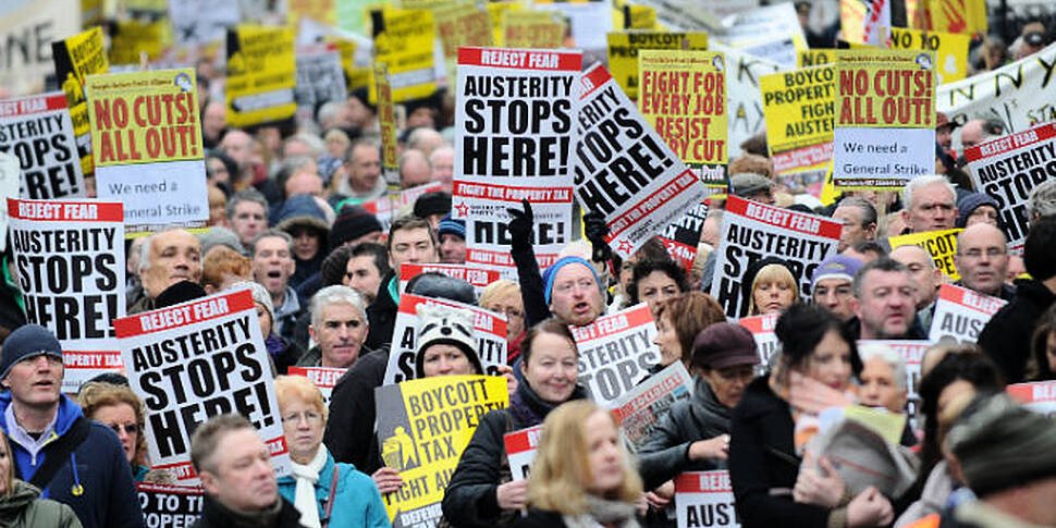
[[[969,225],[957,235],[954,265],[960,274],[958,285],[979,293],[1011,300],[1016,288],[1005,284],[1008,250],[1005,233],[989,223]]]

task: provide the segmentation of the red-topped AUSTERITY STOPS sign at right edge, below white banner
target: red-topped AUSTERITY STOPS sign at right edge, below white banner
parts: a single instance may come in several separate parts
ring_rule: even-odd
[[[965,150],[972,183],[997,200],[1008,247],[1021,253],[1030,224],[1030,192],[1056,179],[1056,123],[999,137]]]

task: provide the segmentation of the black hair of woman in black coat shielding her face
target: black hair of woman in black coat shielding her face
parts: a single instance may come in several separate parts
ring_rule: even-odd
[[[774,334],[781,341],[781,361],[786,368],[799,368],[807,364],[825,334],[835,331],[850,347],[850,368],[855,376],[861,372],[861,358],[851,331],[825,307],[797,303],[788,307],[774,326]]]

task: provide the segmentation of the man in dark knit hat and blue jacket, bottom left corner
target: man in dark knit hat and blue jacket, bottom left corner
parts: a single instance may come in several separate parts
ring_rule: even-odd
[[[63,395],[62,348],[48,329],[26,324],[0,352],[0,429],[15,475],[41,496],[67,504],[86,528],[142,527],[132,469],[118,435]]]

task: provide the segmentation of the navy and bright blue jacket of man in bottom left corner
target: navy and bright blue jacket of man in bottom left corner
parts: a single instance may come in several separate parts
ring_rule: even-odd
[[[11,393],[0,394],[0,428],[10,439],[7,420],[3,419],[9,405]],[[61,395],[56,433],[59,437],[67,433],[83,416],[76,403]],[[132,483],[132,469],[121,441],[107,426],[95,420],[89,420],[89,423],[88,438],[69,455],[70,462],[59,468],[41,490],[40,496],[69,505],[84,528],[144,527],[143,511]],[[48,457],[50,447],[46,445],[37,454],[37,459],[33,461],[25,447],[11,440],[17,477],[29,481]],[[73,490],[77,484],[82,493],[74,495]]]

